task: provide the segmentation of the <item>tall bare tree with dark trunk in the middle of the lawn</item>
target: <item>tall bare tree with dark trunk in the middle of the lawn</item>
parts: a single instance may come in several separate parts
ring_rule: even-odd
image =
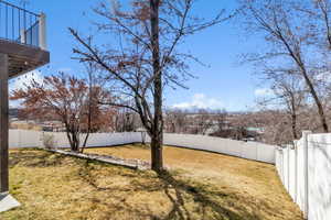
[[[92,62],[104,70],[105,79],[116,88],[118,99],[104,103],[128,108],[140,116],[151,136],[152,169],[161,172],[163,89],[184,87],[183,81],[191,76],[185,61],[195,61],[179,52],[178,45],[186,36],[225,19],[223,12],[211,21],[193,16],[194,0],[132,0],[128,10],[114,2],[113,8],[100,3],[94,12],[104,19],[97,24],[98,30],[118,43],[97,46],[92,36],[85,38],[70,29],[78,43],[74,53],[82,62]]]

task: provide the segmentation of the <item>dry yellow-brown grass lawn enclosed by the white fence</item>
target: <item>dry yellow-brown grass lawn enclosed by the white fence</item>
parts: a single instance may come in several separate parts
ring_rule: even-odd
[[[149,150],[88,150],[149,158]],[[170,173],[157,176],[39,150],[10,152],[11,194],[22,207],[2,220],[301,220],[268,164],[166,147]]]

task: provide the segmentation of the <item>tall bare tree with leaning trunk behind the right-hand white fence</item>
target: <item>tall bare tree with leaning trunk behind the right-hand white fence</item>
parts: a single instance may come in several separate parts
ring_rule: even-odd
[[[261,33],[268,43],[266,53],[254,54],[246,61],[269,62],[278,66],[290,63],[299,70],[308,91],[318,109],[319,121],[324,132],[329,131],[325,111],[319,96],[313,75],[318,73],[316,63],[321,56],[317,52],[313,33],[314,26],[309,26],[309,16],[297,10],[295,1],[276,0],[243,0],[242,15],[249,32]]]

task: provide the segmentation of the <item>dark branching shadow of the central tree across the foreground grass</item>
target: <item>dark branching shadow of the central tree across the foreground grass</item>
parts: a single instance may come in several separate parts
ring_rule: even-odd
[[[98,191],[109,193],[111,197],[120,201],[120,207],[118,207],[119,210],[126,209],[130,213],[135,213],[135,216],[146,217],[153,220],[260,220],[260,217],[249,212],[244,207],[231,204],[231,201],[235,201],[236,199],[239,200],[239,197],[236,198],[236,196],[232,194],[226,194],[220,190],[211,190],[206,186],[199,185],[193,182],[191,183],[189,180],[174,178],[174,176],[169,172],[161,173],[150,183],[136,179],[135,182],[131,182],[128,187],[100,187],[97,184],[98,177],[92,174],[90,170],[88,162],[79,170],[79,176],[84,179],[84,182],[88,183]],[[137,174],[136,177],[139,175],[143,174]],[[132,191],[163,191],[171,202],[171,209],[162,217],[153,216],[152,212],[147,213],[146,210],[149,210],[149,207],[145,207],[145,211],[141,211],[139,208],[132,207],[130,204],[126,204],[127,197],[129,197]],[[115,193],[125,194],[119,194],[120,196],[117,198]],[[97,202],[104,202],[99,199],[97,200]],[[220,200],[231,201],[229,205],[225,207],[221,205],[222,202]],[[114,206],[114,204],[111,206]],[[229,207],[236,211],[231,210]]]

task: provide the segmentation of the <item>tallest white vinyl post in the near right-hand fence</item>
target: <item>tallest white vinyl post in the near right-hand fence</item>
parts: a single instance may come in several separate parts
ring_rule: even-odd
[[[308,178],[308,135],[311,134],[311,131],[302,131],[302,141],[303,141],[303,175],[305,175],[305,209],[303,217],[308,219],[309,213],[309,178]]]

